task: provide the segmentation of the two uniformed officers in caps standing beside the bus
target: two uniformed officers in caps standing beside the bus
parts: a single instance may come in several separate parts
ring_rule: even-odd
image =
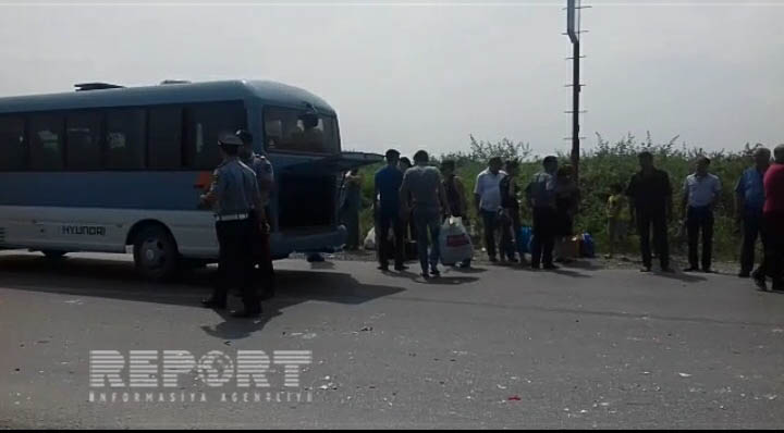
[[[265,297],[273,296],[274,290],[266,212],[274,182],[272,164],[254,152],[253,136],[245,129],[221,136],[218,145],[223,162],[201,196],[203,205],[215,211],[220,246],[218,281],[203,305],[224,309],[229,290],[240,289],[245,308],[232,316],[255,318],[261,313],[258,286],[264,287]]]

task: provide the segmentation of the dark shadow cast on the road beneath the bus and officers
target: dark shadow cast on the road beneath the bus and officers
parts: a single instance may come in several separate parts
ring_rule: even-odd
[[[13,290],[66,294],[108,299],[176,305],[201,308],[199,301],[212,290],[213,268],[184,271],[177,283],[150,283],[138,276],[132,262],[70,258],[48,260],[37,256],[0,258],[3,288]],[[217,338],[240,339],[264,329],[283,310],[319,300],[359,305],[404,292],[400,287],[362,284],[351,274],[324,271],[275,270],[278,297],[262,302],[265,312],[257,320],[235,319],[229,311],[216,311],[223,323],[203,330]],[[229,304],[242,302],[230,295]]]

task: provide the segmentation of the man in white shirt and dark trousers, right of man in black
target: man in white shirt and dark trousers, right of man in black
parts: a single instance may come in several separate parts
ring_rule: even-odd
[[[721,196],[721,181],[708,173],[710,159],[700,157],[697,171],[684,182],[683,212],[689,238],[689,268],[686,272],[699,270],[699,233],[702,232],[702,271],[711,271],[713,252],[713,208]]]

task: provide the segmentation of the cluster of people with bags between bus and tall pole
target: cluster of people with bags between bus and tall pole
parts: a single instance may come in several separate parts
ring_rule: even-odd
[[[405,232],[413,221],[421,275],[440,276],[438,262],[441,251],[441,224],[450,216],[463,218],[466,224],[467,200],[463,181],[455,174],[454,161],[442,161],[441,170],[429,165],[429,156],[420,150],[414,154],[414,166],[402,168],[400,152],[387,151],[387,166],[376,173],[373,210],[379,239],[379,269],[389,270],[390,251],[394,251],[395,270],[403,271]],[[505,171],[502,169],[505,165]],[[477,213],[483,223],[485,244],[493,262],[524,262],[517,258],[520,228],[519,188],[516,183],[519,162],[500,158],[489,161],[488,169],[477,176],[474,189]],[[531,268],[556,269],[553,249],[559,236],[571,234],[576,213],[577,189],[569,170],[562,171],[559,181],[558,159],[544,159],[544,171],[538,173],[526,188],[528,205],[534,210],[534,240]],[[566,205],[562,205],[566,202]],[[388,233],[393,232],[393,239]],[[500,232],[497,249],[497,235]],[[394,246],[390,245],[394,243]],[[428,249],[428,247],[430,248]],[[460,263],[467,267],[470,260]]]

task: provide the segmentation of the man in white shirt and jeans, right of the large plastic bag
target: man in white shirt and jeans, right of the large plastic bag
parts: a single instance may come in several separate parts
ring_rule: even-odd
[[[501,207],[501,180],[506,173],[501,171],[503,160],[492,158],[488,169],[477,176],[474,198],[477,207],[477,214],[481,215],[485,223],[485,247],[491,262],[497,262],[495,255],[495,232],[499,230],[499,211]],[[500,247],[503,251],[503,247]],[[502,255],[503,256],[503,255]]]

